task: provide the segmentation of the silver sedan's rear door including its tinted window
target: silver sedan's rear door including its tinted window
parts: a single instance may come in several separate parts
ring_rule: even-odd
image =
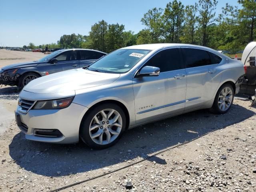
[[[182,48],[187,73],[185,110],[203,106],[212,99],[221,76],[214,55],[197,48]]]

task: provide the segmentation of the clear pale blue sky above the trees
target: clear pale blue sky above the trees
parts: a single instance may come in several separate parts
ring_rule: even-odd
[[[198,0],[180,0],[185,6]],[[124,24],[138,33],[140,22],[154,7],[165,8],[170,0],[0,0],[0,46],[56,43],[63,34],[88,35],[96,22]],[[219,0],[216,14],[226,3]]]

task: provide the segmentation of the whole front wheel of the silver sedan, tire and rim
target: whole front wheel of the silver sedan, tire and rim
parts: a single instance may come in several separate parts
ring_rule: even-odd
[[[120,139],[126,127],[124,111],[116,104],[93,108],[82,120],[80,137],[91,148],[104,149]]]

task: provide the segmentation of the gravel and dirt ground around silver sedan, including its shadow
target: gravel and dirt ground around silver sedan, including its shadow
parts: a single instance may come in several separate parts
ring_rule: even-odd
[[[256,191],[248,100],[235,98],[224,115],[199,110],[127,130],[115,146],[92,150],[26,140],[12,115],[17,98],[15,88],[0,90],[1,192]]]

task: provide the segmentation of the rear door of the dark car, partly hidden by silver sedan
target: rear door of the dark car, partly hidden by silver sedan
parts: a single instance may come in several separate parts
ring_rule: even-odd
[[[104,53],[92,50],[80,50],[81,58],[80,58],[80,68],[85,67],[98,60],[102,56],[106,55]]]

